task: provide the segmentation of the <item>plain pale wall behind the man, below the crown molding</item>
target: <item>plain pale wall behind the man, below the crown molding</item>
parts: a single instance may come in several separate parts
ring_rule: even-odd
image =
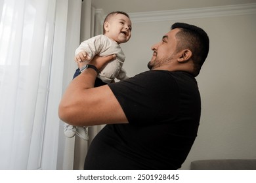
[[[131,17],[133,20],[133,16]],[[256,12],[133,22],[131,40],[121,44],[129,76],[148,70],[152,44],[171,24],[186,22],[209,35],[210,51],[197,77],[202,97],[198,137],[181,169],[197,159],[256,158]]]

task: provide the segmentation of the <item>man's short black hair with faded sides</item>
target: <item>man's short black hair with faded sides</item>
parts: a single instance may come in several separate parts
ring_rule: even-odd
[[[209,52],[209,37],[203,29],[195,25],[178,22],[171,25],[171,29],[175,28],[181,29],[176,34],[177,39],[179,39],[177,52],[182,49],[188,49],[192,52],[192,60],[195,65],[194,75],[197,76]]]

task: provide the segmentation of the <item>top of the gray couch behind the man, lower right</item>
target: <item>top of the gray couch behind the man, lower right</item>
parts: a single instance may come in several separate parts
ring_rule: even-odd
[[[191,170],[256,170],[256,159],[205,159],[192,161]]]

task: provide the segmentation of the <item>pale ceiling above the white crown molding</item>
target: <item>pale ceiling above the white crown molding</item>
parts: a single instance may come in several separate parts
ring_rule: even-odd
[[[186,8],[218,7],[256,3],[256,0],[92,0],[96,9],[104,14],[120,10],[127,13],[177,10]]]

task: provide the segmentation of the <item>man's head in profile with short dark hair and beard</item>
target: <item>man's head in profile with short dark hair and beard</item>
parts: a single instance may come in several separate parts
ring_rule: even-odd
[[[209,38],[200,27],[175,23],[152,50],[148,68],[188,71],[197,76],[209,52]]]

